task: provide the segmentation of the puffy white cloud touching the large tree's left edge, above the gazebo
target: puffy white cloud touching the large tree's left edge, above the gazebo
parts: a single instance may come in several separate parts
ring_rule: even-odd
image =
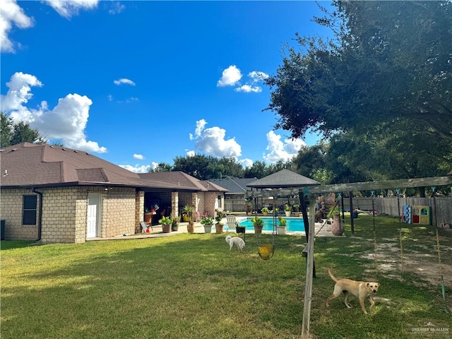
[[[267,133],[268,145],[266,150],[269,152],[263,155],[263,159],[268,162],[278,162],[279,160],[287,161],[291,160],[292,157],[298,154],[298,151],[306,145],[302,139],[291,138],[281,141],[281,136],[276,134],[274,131],[269,131]]]

